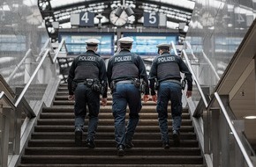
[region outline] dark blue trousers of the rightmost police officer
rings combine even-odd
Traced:
[[[158,102],[156,111],[158,113],[159,126],[162,141],[169,141],[168,133],[168,103],[171,101],[171,116],[173,119],[172,130],[179,131],[182,121],[182,88],[180,84],[163,81],[158,90]]]

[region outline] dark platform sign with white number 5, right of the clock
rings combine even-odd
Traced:
[[[148,12],[144,12],[143,13],[143,17],[144,17],[144,23],[143,26],[145,27],[158,27],[159,25],[159,16],[158,13],[148,13]]]

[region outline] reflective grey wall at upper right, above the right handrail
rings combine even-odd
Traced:
[[[254,0],[196,0],[186,39],[200,61],[207,54],[219,76],[229,64],[237,47],[255,18]],[[212,83],[213,74],[200,67],[200,79]]]

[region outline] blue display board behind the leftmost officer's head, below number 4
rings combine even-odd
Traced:
[[[114,54],[114,33],[64,33],[59,32],[59,41],[65,40],[68,54],[78,55],[87,51],[85,43],[88,39],[100,40],[97,54]]]

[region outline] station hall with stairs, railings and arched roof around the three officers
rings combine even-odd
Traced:
[[[0,167],[256,166],[255,18],[255,0],[0,0]],[[160,43],[191,70],[179,148],[159,145],[149,102],[135,148],[118,157],[111,98],[101,106],[98,147],[74,146],[72,60],[94,38],[108,63],[122,37],[134,40],[147,72]]]

